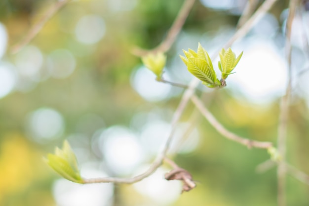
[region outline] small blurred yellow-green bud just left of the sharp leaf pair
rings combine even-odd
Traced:
[[[166,63],[166,56],[162,52],[143,56],[142,62],[155,74],[157,79],[161,78]]]

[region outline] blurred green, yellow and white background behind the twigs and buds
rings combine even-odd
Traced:
[[[189,104],[171,154],[197,188],[165,181],[163,165],[133,185],[79,185],[43,161],[68,139],[83,177],[130,177],[154,160],[170,129],[183,89],[155,82],[132,55],[153,48],[183,0],[74,0],[16,54],[21,41],[56,0],[0,1],[0,206],[274,206],[276,169],[269,159],[221,136]],[[257,1],[259,6],[262,1]],[[304,3],[306,3],[304,1]],[[164,79],[188,84],[179,58],[198,42],[211,56],[234,34],[245,0],[196,0],[167,52]],[[199,85],[203,101],[231,131],[276,143],[279,98],[287,83],[284,31],[288,1],[273,8],[232,49],[244,51],[228,86]],[[308,9],[308,8],[307,8]],[[293,90],[288,162],[309,173],[309,12],[301,4],[292,29]],[[215,70],[219,71],[213,59]],[[308,206],[309,187],[287,177],[288,205]]]

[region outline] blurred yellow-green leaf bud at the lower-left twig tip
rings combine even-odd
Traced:
[[[56,147],[55,154],[48,154],[46,163],[62,177],[77,183],[83,183],[77,166],[77,158],[68,141],[64,141],[62,150]]]

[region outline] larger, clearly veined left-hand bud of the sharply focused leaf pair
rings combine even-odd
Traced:
[[[186,57],[180,55],[180,58],[186,64],[187,69],[191,74],[208,87],[213,88],[221,86],[214,71],[211,59],[200,43],[198,43],[197,53],[192,49],[183,51]]]

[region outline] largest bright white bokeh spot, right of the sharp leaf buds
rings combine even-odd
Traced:
[[[271,41],[256,37],[243,42],[242,58],[235,68],[235,74],[228,79],[228,88],[239,92],[254,103],[269,103],[284,93],[287,70],[283,57]],[[245,45],[250,45],[245,48]],[[240,52],[236,52],[237,55]]]

